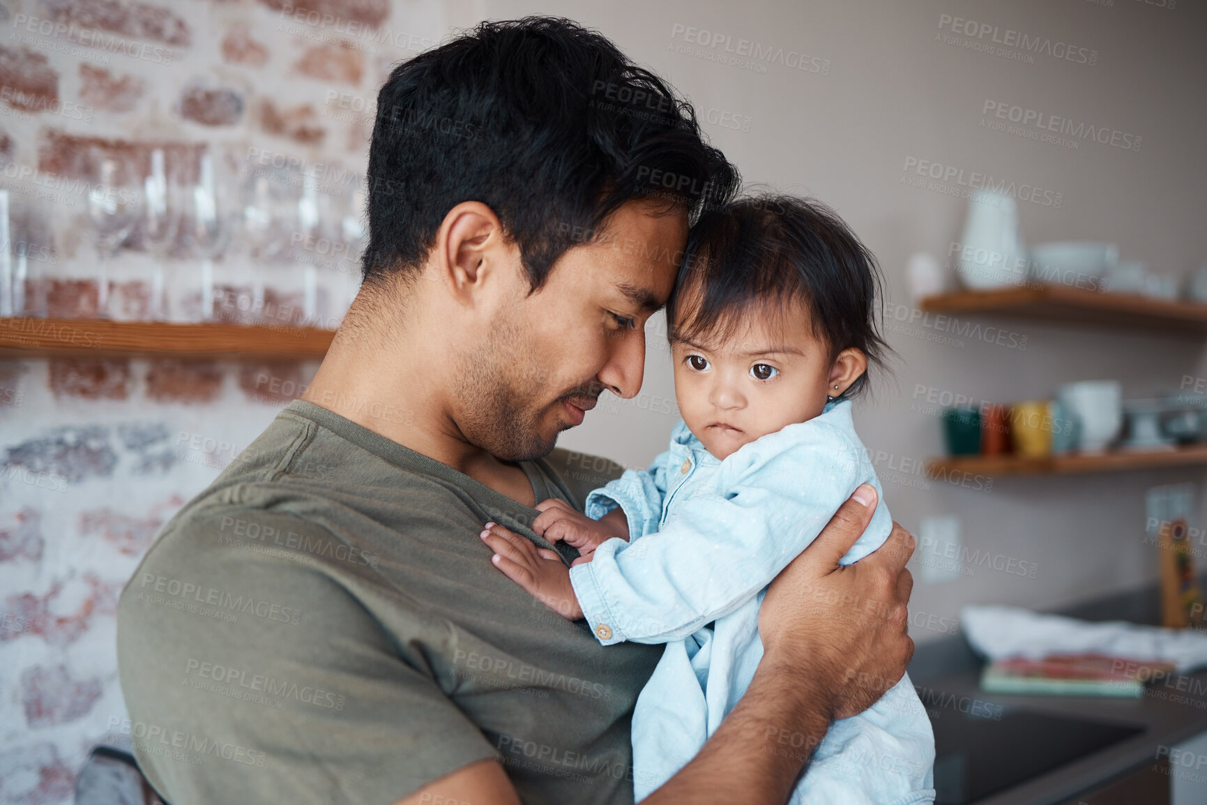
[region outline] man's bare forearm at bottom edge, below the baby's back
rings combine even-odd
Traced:
[[[643,801],[782,805],[829,729],[833,705],[803,667],[759,663],[700,753]]]

